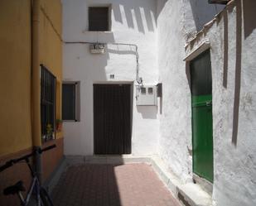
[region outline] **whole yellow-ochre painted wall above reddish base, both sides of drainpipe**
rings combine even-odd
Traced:
[[[40,60],[56,75],[56,118],[60,119],[61,12],[60,0],[41,0]],[[31,0],[0,0],[0,31],[1,158],[32,146]],[[57,133],[59,137],[63,137],[62,132]]]

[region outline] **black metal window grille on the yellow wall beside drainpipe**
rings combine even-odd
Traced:
[[[56,132],[56,77],[41,65],[41,138],[55,139]]]

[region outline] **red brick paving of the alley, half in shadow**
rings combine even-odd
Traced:
[[[180,206],[150,165],[75,165],[53,190],[56,206]]]

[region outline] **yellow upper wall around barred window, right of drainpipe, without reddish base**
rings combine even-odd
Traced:
[[[62,11],[60,0],[41,0],[40,22],[40,61],[56,76],[56,118],[61,119]],[[56,137],[63,137],[62,132],[57,132]]]

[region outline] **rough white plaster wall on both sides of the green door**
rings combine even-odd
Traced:
[[[191,50],[200,46],[202,41],[209,40],[213,79],[213,204],[253,206],[256,204],[256,73],[255,58],[252,54],[256,51],[256,24],[253,12],[256,3],[253,0],[244,1],[245,12],[239,15],[242,17],[242,25],[237,23],[234,2],[230,4],[229,9],[224,12],[227,20],[224,21],[223,15],[220,15],[210,24],[209,31],[205,29],[196,41],[186,47],[185,54],[183,46],[186,40],[193,38],[196,31],[193,8],[186,4],[186,0],[159,2],[163,3],[163,6],[159,4],[160,15],[157,19],[159,81],[163,83],[160,155],[181,180],[191,180],[192,162],[187,150],[191,149],[191,94],[186,79],[189,68],[182,60]],[[239,50],[236,41],[239,28],[242,34],[242,52],[236,54]],[[228,48],[227,53],[224,48]],[[236,74],[239,59],[240,78]],[[227,65],[226,68],[224,65]],[[228,72],[225,86],[226,69]],[[236,144],[232,142],[233,122],[236,117],[235,85],[240,90]]]

